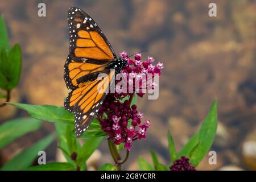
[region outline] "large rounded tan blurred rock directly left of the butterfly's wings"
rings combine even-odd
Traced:
[[[22,87],[30,104],[63,106],[68,95],[63,80],[64,63],[65,56],[47,56],[30,68]]]

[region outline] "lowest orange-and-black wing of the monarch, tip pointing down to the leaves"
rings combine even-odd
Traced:
[[[84,133],[97,114],[112,78],[113,73],[108,73],[101,80],[88,81],[81,88],[70,92],[66,98],[64,106],[75,116],[77,137]]]

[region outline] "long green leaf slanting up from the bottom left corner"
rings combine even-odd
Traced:
[[[52,143],[55,138],[55,134],[51,134],[48,137],[39,140],[33,146],[24,149],[18,155],[14,156],[13,159],[10,160],[5,166],[3,166],[3,171],[10,170],[26,170],[30,164],[35,160],[36,156],[38,156],[38,152],[44,150],[49,144]]]

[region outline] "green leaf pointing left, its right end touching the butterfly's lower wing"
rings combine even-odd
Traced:
[[[61,122],[69,125],[73,125],[74,117],[72,113],[69,113],[64,107],[57,107],[52,105],[30,105],[9,103],[19,109],[26,110],[31,117],[41,119],[49,122]]]

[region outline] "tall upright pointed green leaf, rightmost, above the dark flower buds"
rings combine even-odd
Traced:
[[[199,130],[199,142],[197,143],[197,146],[193,148],[189,160],[193,166],[196,167],[201,160],[203,160],[205,154],[210,150],[217,131],[217,121],[217,100],[215,100],[207,118],[205,118],[205,121]]]

